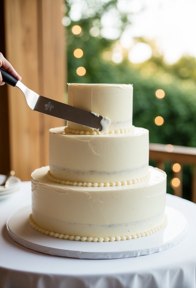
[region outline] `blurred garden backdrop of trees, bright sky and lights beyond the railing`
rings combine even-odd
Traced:
[[[133,84],[134,126],[149,130],[150,143],[169,144],[151,147],[160,155],[151,153],[157,161],[150,164],[166,171],[169,193],[187,199],[193,166],[188,159],[173,162],[176,155],[165,162],[163,152],[196,146],[195,9],[192,0],[69,0],[62,6],[68,82]]]

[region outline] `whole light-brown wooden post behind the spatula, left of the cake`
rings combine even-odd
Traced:
[[[6,56],[36,93],[64,102],[63,0],[4,0]],[[32,111],[23,93],[8,87],[10,166],[21,180],[48,164],[48,130],[64,120]]]

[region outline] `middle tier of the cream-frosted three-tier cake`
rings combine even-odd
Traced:
[[[147,129],[135,127],[134,134],[102,135],[78,135],[64,132],[64,129],[49,130],[51,180],[107,186],[146,179],[149,163]]]

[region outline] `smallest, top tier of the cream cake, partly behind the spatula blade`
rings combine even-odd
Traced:
[[[109,132],[132,131],[133,86],[131,84],[68,84],[68,105],[106,116],[111,120]],[[90,131],[89,127],[67,123],[71,130]]]

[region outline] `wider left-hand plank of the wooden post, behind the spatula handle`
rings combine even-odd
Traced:
[[[35,1],[6,0],[6,55],[22,76],[22,83],[38,91],[37,14]],[[23,93],[8,86],[10,164],[21,180],[29,180],[39,167],[39,118],[26,104]]]

